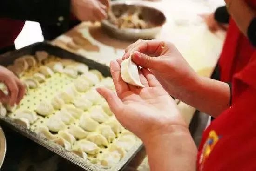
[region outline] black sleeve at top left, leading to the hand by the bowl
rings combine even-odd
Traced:
[[[67,25],[70,0],[0,0],[0,17]]]

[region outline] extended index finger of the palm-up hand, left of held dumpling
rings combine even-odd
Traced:
[[[116,93],[120,97],[123,92],[129,90],[129,87],[127,83],[122,80],[120,66],[116,61],[110,62],[110,72],[114,81]]]

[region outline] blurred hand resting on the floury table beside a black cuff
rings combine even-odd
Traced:
[[[201,15],[204,19],[206,25],[208,26],[211,32],[216,32],[218,30],[227,30],[228,25],[218,23],[214,18],[214,13],[208,15]]]

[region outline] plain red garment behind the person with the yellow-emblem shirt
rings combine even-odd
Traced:
[[[256,0],[245,1],[249,7],[256,9]],[[243,35],[235,21],[230,18],[227,37],[219,59],[220,80],[231,82],[232,77],[248,64],[253,52],[254,47],[249,39]]]

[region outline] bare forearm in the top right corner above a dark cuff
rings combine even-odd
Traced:
[[[247,36],[248,26],[255,17],[254,11],[246,4],[244,0],[225,0],[228,11],[236,21],[237,26]]]

